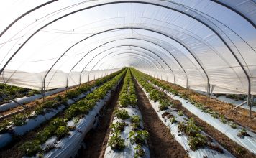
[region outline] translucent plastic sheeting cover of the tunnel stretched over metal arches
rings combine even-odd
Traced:
[[[12,0],[0,13],[1,83],[60,88],[132,66],[256,94],[255,0]]]

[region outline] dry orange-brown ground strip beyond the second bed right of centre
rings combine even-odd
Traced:
[[[237,108],[237,111],[232,110],[234,106],[230,103],[224,103],[222,101],[218,101],[214,98],[209,98],[208,96],[204,96],[194,92],[193,90],[188,90],[186,88],[182,88],[179,85],[174,85],[173,83],[168,83],[164,80],[159,80],[161,83],[168,85],[170,88],[174,90],[178,90],[179,93],[186,94],[189,98],[196,101],[196,103],[203,104],[206,108],[210,108],[213,111],[224,115],[230,121],[234,121],[240,126],[249,129],[252,132],[256,133],[256,112],[252,111],[252,119],[249,118],[249,111],[244,108]]]

